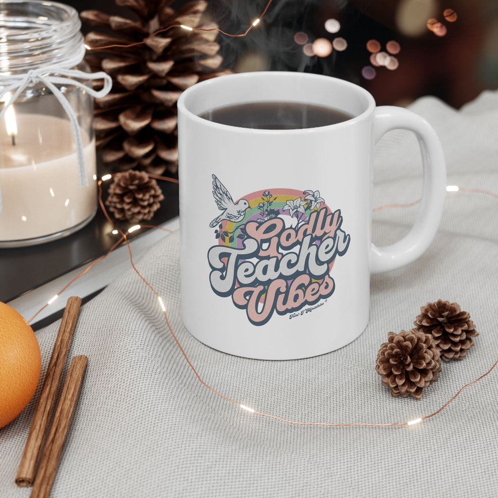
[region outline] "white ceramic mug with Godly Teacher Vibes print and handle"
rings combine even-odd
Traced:
[[[263,101],[353,118],[264,130],[199,117]],[[423,195],[408,235],[376,247],[373,146],[394,128],[419,139]],[[178,100],[178,156],[182,319],[199,341],[233,355],[306,358],[356,339],[369,320],[371,273],[419,257],[443,210],[444,156],[431,126],[327,76],[254,72],[190,87]]]

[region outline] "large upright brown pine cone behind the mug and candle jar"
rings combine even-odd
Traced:
[[[99,46],[143,41],[173,24],[217,28],[203,20],[208,2],[190,1],[173,10],[172,0],[116,0],[131,9],[137,20],[84,10],[87,23],[107,28],[91,32],[85,43],[92,51],[85,58],[92,70],[113,78],[113,90],[96,100],[95,131],[104,163],[117,170],[139,167],[162,174],[178,169],[176,101],[183,90],[221,74],[223,61],[215,42],[218,31],[172,28],[134,47],[99,50]]]

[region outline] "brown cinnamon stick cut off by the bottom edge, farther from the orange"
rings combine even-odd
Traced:
[[[75,356],[71,362],[50,434],[43,450],[31,498],[48,498],[50,495],[87,363],[86,356]]]

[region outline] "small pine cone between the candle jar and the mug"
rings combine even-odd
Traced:
[[[164,196],[157,182],[143,171],[124,171],[114,177],[106,205],[117,220],[150,220]]]

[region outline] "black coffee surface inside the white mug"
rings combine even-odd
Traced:
[[[200,117],[215,123],[255,129],[317,128],[353,118],[338,109],[304,102],[249,102],[212,109]]]

